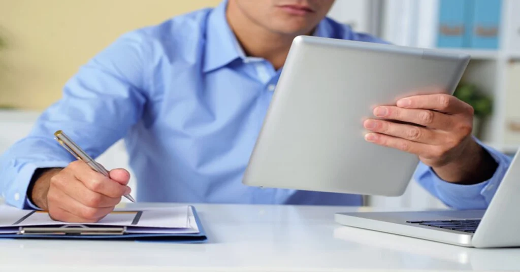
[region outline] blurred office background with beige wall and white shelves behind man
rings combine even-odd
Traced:
[[[219,2],[0,0],[0,153],[27,135],[64,83],[119,35]],[[520,146],[518,14],[520,0],[336,0],[329,17],[394,44],[471,54],[455,95],[475,108],[474,135],[513,154]],[[98,161],[127,168],[122,142]],[[443,207],[414,182],[404,196],[370,197],[369,204]]]

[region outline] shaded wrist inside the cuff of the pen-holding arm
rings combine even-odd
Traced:
[[[38,169],[33,175],[33,180],[27,196],[38,208],[48,210],[47,192],[49,191],[50,178],[61,171],[61,168]]]

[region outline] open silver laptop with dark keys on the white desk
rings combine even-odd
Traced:
[[[336,222],[475,248],[520,247],[518,150],[487,210],[337,213]]]

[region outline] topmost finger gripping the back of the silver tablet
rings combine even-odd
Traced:
[[[458,98],[447,94],[417,95],[402,98],[397,101],[397,107],[408,109],[426,109],[456,114],[473,113],[473,108]]]

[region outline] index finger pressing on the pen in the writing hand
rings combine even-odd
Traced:
[[[85,187],[91,191],[100,193],[111,198],[119,198],[129,193],[130,187],[121,185],[114,180],[103,176],[102,174],[90,169],[90,167],[82,162],[76,161],[69,164],[74,176],[79,179]]]

